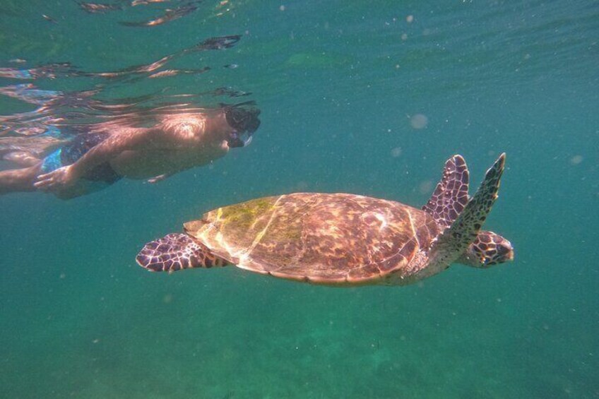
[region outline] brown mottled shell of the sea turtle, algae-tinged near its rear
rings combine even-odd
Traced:
[[[321,284],[372,284],[402,270],[439,233],[401,203],[353,194],[295,193],[218,208],[185,224],[240,268]]]

